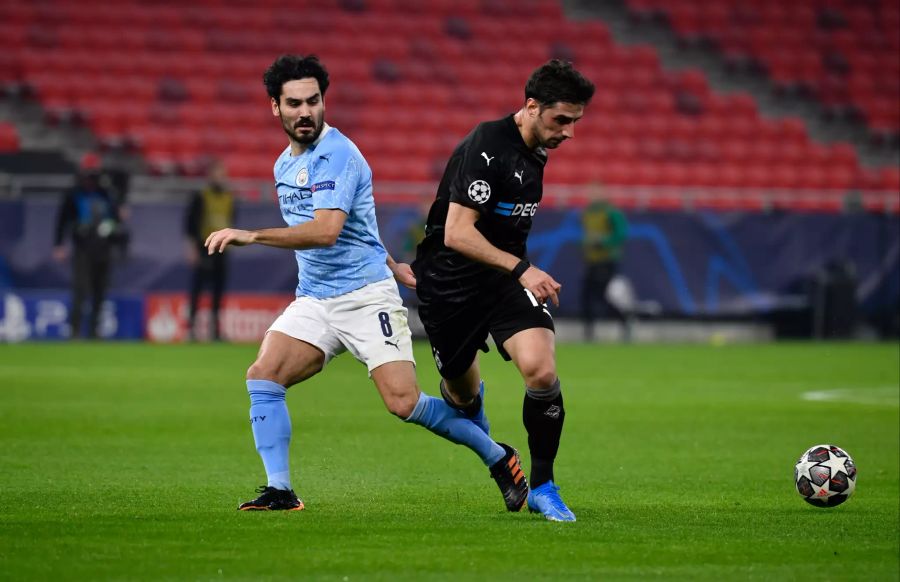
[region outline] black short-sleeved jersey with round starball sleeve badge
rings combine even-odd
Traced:
[[[423,302],[462,302],[509,277],[444,245],[450,202],[477,210],[475,228],[492,245],[525,258],[531,221],[543,195],[543,148],[525,145],[512,115],[479,124],[453,151],[428,213],[413,270]]]

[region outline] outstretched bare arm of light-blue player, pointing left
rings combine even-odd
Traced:
[[[206,239],[209,254],[221,253],[228,245],[260,244],[281,249],[312,249],[330,247],[337,242],[347,215],[343,210],[319,209],[312,220],[284,228],[217,230]]]

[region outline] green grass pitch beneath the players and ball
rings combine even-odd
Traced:
[[[235,511],[264,481],[255,351],[0,346],[0,579],[900,577],[896,344],[559,346],[573,524],[505,512],[479,460],[391,417],[349,355],[288,394],[306,510]],[[521,382],[496,352],[482,366],[494,436],[527,469]],[[833,509],[792,483],[823,442],[859,467]]]

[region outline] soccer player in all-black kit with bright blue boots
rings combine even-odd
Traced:
[[[593,95],[594,85],[570,63],[536,69],[518,112],[479,124],[454,150],[413,263],[419,315],[447,403],[489,430],[477,357],[487,351],[488,334],[522,374],[528,508],[552,521],[575,521],[553,475],[566,412],[545,302],[559,305],[561,286],[528,262],[526,240],[543,195],[547,150],[575,135]]]

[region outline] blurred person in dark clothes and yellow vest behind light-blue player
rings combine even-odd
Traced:
[[[219,310],[225,291],[227,260],[225,253],[208,254],[204,243],[210,234],[234,223],[234,194],[228,189],[225,166],[214,163],[209,170],[203,190],[194,194],[185,217],[185,233],[188,237],[188,262],[193,267],[191,302],[188,312],[188,337],[196,337],[195,320],[197,304],[203,288],[209,286],[212,294],[210,313],[210,337],[221,339]]]

